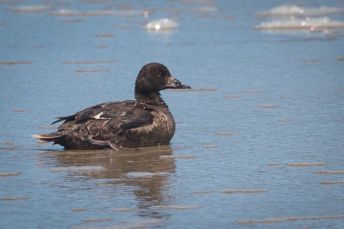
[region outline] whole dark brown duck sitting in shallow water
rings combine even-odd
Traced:
[[[42,142],[51,142],[65,149],[112,150],[169,144],[175,121],[161,98],[165,89],[191,89],[171,76],[162,64],[144,65],[135,82],[136,101],[105,102],[73,115],[57,117],[64,121],[49,134],[32,135]]]

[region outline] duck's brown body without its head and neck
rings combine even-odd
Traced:
[[[129,100],[98,104],[58,121],[63,120],[58,131],[51,133],[54,139],[49,140],[71,149],[102,148],[88,138],[122,147],[168,144],[175,131],[167,107]]]

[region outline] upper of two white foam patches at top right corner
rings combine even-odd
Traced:
[[[275,17],[286,17],[286,16],[321,16],[335,13],[343,13],[344,8],[340,7],[325,7],[320,8],[300,8],[297,5],[279,5],[268,11],[257,12],[257,16],[275,16]]]

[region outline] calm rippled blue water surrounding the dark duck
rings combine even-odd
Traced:
[[[282,0],[57,0],[39,13],[6,9],[44,1],[1,2],[0,61],[31,63],[0,65],[0,228],[344,227],[343,216],[336,218],[344,214],[344,61],[337,60],[344,30],[253,30],[278,20],[255,13],[291,3]],[[292,3],[344,7],[337,0]],[[117,7],[152,13],[50,15]],[[199,7],[218,11],[190,12]],[[344,21],[343,13],[325,16]],[[160,18],[180,27],[141,29]],[[104,60],[117,62],[62,64]],[[40,127],[54,117],[134,99],[137,73],[149,62],[166,65],[191,88],[217,89],[162,92],[179,121],[170,145],[80,151],[31,138],[53,132]],[[76,72],[88,69],[107,71]],[[307,162],[313,165],[287,165]],[[331,173],[312,173],[323,170]],[[228,189],[266,192],[219,192]],[[284,217],[298,220],[274,222]],[[266,218],[274,220],[241,223]]]

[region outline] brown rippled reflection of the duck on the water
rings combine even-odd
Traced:
[[[99,180],[110,192],[118,193],[123,190],[123,195],[135,195],[139,214],[150,215],[149,207],[157,204],[166,204],[170,201],[168,192],[171,183],[171,175],[152,175],[149,177],[128,176],[130,172],[175,172],[174,159],[162,159],[159,156],[171,155],[173,149],[170,145],[142,147],[138,151],[131,150],[62,150],[49,151],[41,154],[40,161],[49,167],[69,166],[94,166],[100,165],[106,169],[93,172],[71,172],[66,173],[66,182],[77,182],[78,180]],[[96,188],[98,185],[88,184],[87,189]],[[109,188],[110,187],[110,188]],[[130,190],[130,192],[128,192]],[[150,210],[149,210],[150,211]],[[156,214],[156,213],[155,213]]]

